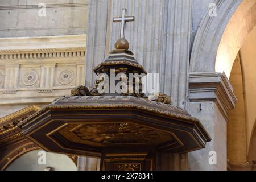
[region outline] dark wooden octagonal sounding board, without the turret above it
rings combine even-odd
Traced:
[[[210,140],[184,110],[133,96],[63,97],[22,122],[23,134],[47,151],[185,153]]]

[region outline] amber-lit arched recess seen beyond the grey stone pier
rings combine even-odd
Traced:
[[[228,124],[228,157],[233,164],[256,161],[256,27],[234,61],[230,82],[238,98]]]

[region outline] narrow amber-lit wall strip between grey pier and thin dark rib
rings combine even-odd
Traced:
[[[246,164],[246,110],[245,110],[245,82],[241,68],[240,55],[234,62],[230,75],[230,82],[237,97],[236,108],[229,114],[228,122],[228,160],[231,164]]]

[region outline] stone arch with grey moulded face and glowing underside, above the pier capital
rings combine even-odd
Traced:
[[[256,1],[215,1],[217,16],[207,14],[193,43],[190,72],[225,72],[232,65],[246,36],[256,24]]]

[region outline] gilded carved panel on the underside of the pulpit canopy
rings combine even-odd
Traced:
[[[173,139],[172,135],[130,123],[68,125],[59,131],[71,142],[106,146],[113,144],[155,144]]]

